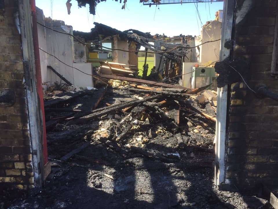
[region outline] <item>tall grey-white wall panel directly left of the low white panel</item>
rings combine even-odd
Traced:
[[[73,34],[72,26],[66,25],[62,27],[54,27],[54,29]],[[46,28],[46,43],[48,53],[56,56],[59,60],[68,64],[69,66],[73,66],[73,37],[57,33],[51,29]],[[65,77],[69,82],[74,84],[74,69],[72,67],[66,66],[52,56],[48,56],[47,63],[58,73],[63,75],[63,77]],[[50,75],[48,75],[48,72],[50,72]],[[50,86],[54,85],[54,82],[56,81],[61,81],[61,79],[50,69],[47,69],[47,80],[50,81]]]

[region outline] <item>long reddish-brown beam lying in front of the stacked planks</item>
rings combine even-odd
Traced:
[[[155,81],[142,80],[142,79],[137,79],[137,78],[127,78],[127,77],[121,77],[121,76],[116,76],[116,75],[102,75],[102,74],[98,74],[98,76],[100,78],[124,80],[124,81],[128,81],[128,82],[150,84],[150,85],[154,85],[154,86],[161,86],[161,87],[167,87],[167,88],[173,88],[173,89],[187,89],[186,93],[190,93],[191,91],[196,90],[196,89],[190,89],[190,88],[185,88],[185,87],[171,85],[171,84],[165,84],[165,83],[157,83]]]

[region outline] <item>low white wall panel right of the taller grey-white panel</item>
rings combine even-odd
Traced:
[[[92,74],[92,63],[73,63],[73,66],[84,73]],[[74,69],[74,85],[76,87],[94,87],[93,78]]]

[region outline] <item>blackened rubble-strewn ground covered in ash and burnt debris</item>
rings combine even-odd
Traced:
[[[146,98],[128,87],[108,88],[98,108]],[[56,108],[93,111],[90,91]],[[3,195],[16,208],[270,208],[267,201],[213,185],[214,117],[189,96],[162,96],[84,123],[60,121],[47,133],[52,172],[45,187],[23,199]],[[162,112],[161,112],[162,111]],[[179,112],[180,118],[177,120]],[[48,111],[47,118],[68,114]],[[80,115],[82,116],[82,115]],[[125,119],[123,121],[123,119]],[[90,142],[67,161],[60,159]]]

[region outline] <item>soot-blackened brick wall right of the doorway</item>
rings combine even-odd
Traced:
[[[237,0],[232,56],[250,62],[251,88],[266,84],[278,93],[271,76],[277,0]],[[246,6],[251,3],[250,10]],[[226,183],[238,187],[278,184],[278,102],[257,98],[244,83],[230,88]]]

